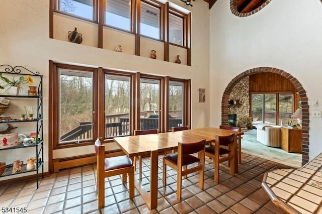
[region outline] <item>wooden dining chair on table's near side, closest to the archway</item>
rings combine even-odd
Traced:
[[[215,136],[215,142],[206,147],[205,156],[213,160],[214,180],[219,183],[219,165],[229,169],[230,175],[235,175],[235,134],[228,136]],[[221,164],[228,161],[228,164]]]

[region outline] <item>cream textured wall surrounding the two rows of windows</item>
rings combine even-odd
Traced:
[[[45,171],[48,170],[48,61],[77,63],[103,68],[139,71],[158,75],[191,79],[192,81],[192,128],[209,125],[209,10],[203,1],[187,7],[181,1],[173,3],[192,12],[192,66],[164,62],[146,57],[129,55],[105,49],[79,45],[67,41],[49,39],[49,1],[2,0],[0,1],[0,65],[22,65],[44,75],[44,140]],[[198,13],[198,14],[197,14]],[[74,26],[70,26],[72,31]],[[66,36],[68,32],[66,32]],[[198,88],[206,89],[206,102],[198,103]],[[3,130],[3,124],[0,124]],[[57,152],[78,155],[92,148]],[[78,151],[82,150],[82,151]],[[12,162],[16,150],[0,151],[0,161]],[[22,157],[24,158],[24,157]],[[28,156],[25,159],[29,158]],[[55,158],[55,157],[54,157]],[[25,174],[19,175],[23,176]],[[12,177],[4,177],[10,179]]]

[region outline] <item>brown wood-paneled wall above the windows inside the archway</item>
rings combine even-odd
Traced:
[[[277,73],[263,72],[250,75],[250,93],[254,92],[292,92],[296,89],[293,83]]]

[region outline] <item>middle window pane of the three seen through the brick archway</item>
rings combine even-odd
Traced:
[[[264,94],[264,123],[276,124],[276,94]]]

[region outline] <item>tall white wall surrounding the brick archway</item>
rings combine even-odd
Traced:
[[[282,69],[302,84],[309,104],[309,159],[322,152],[322,4],[319,0],[272,1],[258,13],[240,18],[229,1],[210,10],[210,125],[221,122],[221,97],[238,74],[257,67]],[[318,100],[319,106],[313,107]]]

